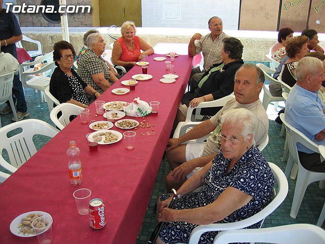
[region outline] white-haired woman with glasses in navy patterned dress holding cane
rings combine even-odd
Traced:
[[[157,244],[188,243],[194,227],[246,219],[271,201],[274,177],[254,145],[256,121],[256,116],[244,108],[222,115],[218,135],[221,150],[216,157],[178,189],[182,198],[174,209],[168,208],[170,194],[160,196],[157,217],[166,223]],[[200,186],[200,192],[192,192]],[[258,228],[258,224],[249,228]],[[202,234],[199,243],[212,243],[216,234]]]

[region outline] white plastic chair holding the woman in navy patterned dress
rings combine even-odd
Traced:
[[[272,169],[275,181],[278,184],[278,191],[273,191],[273,199],[265,208],[245,220],[234,223],[199,225],[193,229],[188,244],[198,243],[200,236],[207,231],[237,230],[251,226],[259,221],[262,221],[262,226],[264,219],[272,214],[272,212],[283,202],[288,193],[288,181],[282,170],[273,163],[269,162],[269,165]]]

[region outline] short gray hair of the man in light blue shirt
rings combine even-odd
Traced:
[[[297,82],[304,82],[307,75],[315,76],[321,68],[323,68],[323,63],[318,58],[303,57],[296,68]]]

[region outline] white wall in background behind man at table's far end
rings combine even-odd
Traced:
[[[223,29],[238,29],[239,0],[142,0],[142,27],[208,28],[212,16]]]

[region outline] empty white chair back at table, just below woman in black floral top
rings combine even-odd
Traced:
[[[57,105],[50,113],[50,118],[53,121],[53,123],[62,130],[64,127],[66,127],[70,123],[70,116],[71,115],[79,115],[79,110],[82,109],[82,107],[79,107],[78,105],[72,104],[72,103],[61,103]],[[57,118],[57,114],[61,112],[62,115]]]

